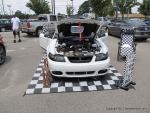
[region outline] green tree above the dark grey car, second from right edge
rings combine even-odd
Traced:
[[[120,11],[123,19],[125,13],[131,13],[131,8],[135,5],[139,5],[137,0],[113,0],[113,2],[116,8]]]

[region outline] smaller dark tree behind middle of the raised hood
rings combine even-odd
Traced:
[[[80,5],[78,14],[82,15],[84,13],[89,13],[89,12],[90,12],[89,1],[85,1],[83,4]]]

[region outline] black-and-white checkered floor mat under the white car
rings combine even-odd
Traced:
[[[36,69],[33,78],[25,92],[26,95],[30,94],[47,94],[59,92],[84,92],[84,91],[101,91],[117,89],[115,83],[122,79],[122,75],[110,66],[109,73],[103,77],[96,78],[54,78],[53,83],[49,87],[43,86],[42,67],[44,60]]]

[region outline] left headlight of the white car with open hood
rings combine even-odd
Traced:
[[[56,61],[56,62],[65,62],[65,58],[63,55],[52,55],[51,53],[48,54],[49,59]]]

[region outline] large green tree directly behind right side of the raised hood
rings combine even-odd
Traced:
[[[111,0],[89,0],[89,3],[96,16],[107,16],[112,7]]]

